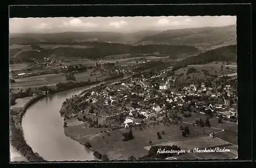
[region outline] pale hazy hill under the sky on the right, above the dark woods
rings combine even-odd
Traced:
[[[137,44],[172,44],[196,46],[202,51],[237,44],[236,25],[166,30],[147,36]]]

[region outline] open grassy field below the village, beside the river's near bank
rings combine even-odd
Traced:
[[[187,124],[182,124],[186,126]],[[188,137],[197,137],[200,135],[208,136],[211,133],[212,129],[205,128],[205,133],[203,133],[203,128],[189,126],[190,134]],[[133,128],[134,139],[129,141],[122,141],[122,133],[127,132],[127,129],[118,129],[111,131],[111,136],[106,135],[106,133],[95,134],[95,131],[88,131],[89,128],[85,128],[84,125],[73,126],[65,128],[65,132],[68,136],[76,136],[78,141],[86,142],[90,141],[94,150],[104,153],[109,156],[110,159],[126,159],[127,157],[133,155],[134,157],[141,157],[147,154],[147,150],[144,147],[150,145],[148,142],[152,141],[152,145],[156,145],[162,142],[167,142],[170,140],[183,139],[184,137],[181,134],[179,126],[150,126],[143,128],[143,130],[135,130]],[[104,131],[103,129],[99,129]],[[165,134],[161,135],[162,139],[157,138],[157,132],[162,134],[164,131]],[[80,135],[80,136],[79,136]],[[79,137],[78,137],[79,136]],[[104,136],[104,138],[102,137]],[[107,143],[108,142],[108,143]]]

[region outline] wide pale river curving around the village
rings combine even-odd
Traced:
[[[118,78],[116,81],[128,77]],[[59,110],[66,98],[81,93],[87,87],[80,87],[59,92],[45,97],[32,104],[26,111],[22,127],[28,145],[48,161],[86,161],[98,160],[93,153],[80,145],[79,142],[66,136],[63,128],[63,118]]]

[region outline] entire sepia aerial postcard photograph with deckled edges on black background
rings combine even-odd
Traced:
[[[9,18],[10,162],[236,159],[237,76],[236,16]]]

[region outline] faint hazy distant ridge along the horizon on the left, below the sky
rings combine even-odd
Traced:
[[[139,31],[133,33],[115,32],[63,32],[63,33],[11,33],[10,44],[38,44],[42,42],[110,42],[133,44],[146,36],[151,36],[160,31]]]

